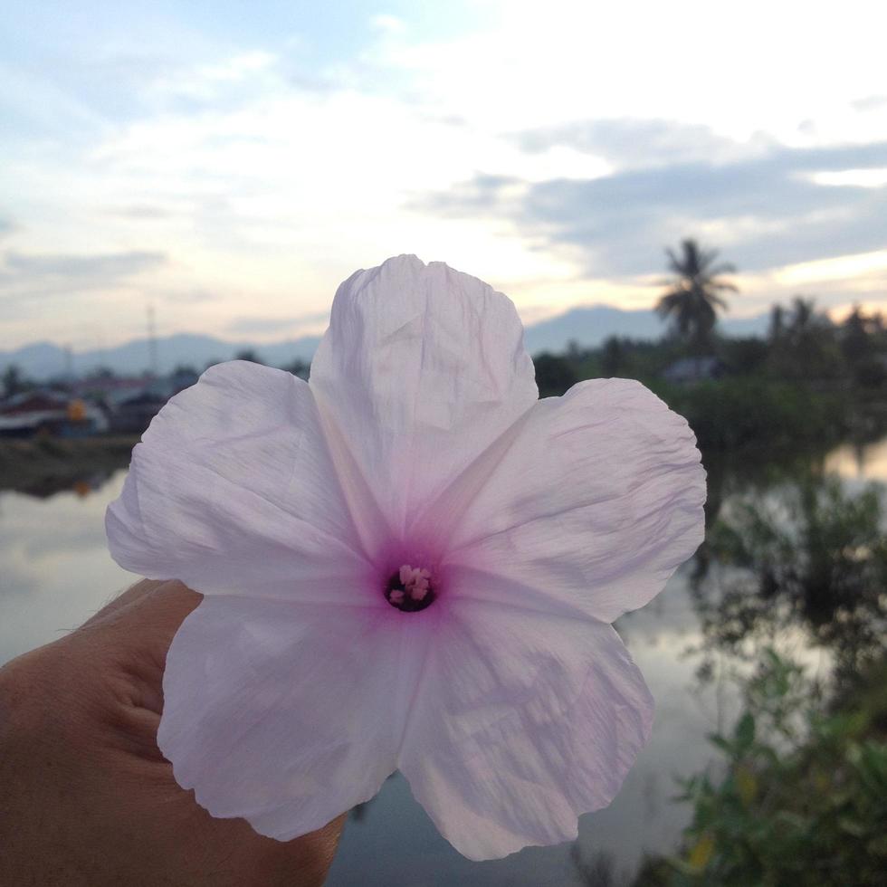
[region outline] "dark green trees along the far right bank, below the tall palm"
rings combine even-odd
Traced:
[[[708,329],[703,323],[698,335],[683,338],[611,337],[601,348],[574,344],[560,356],[539,355],[539,388],[553,396],[577,379],[639,379],[686,417],[709,453],[821,448],[887,429],[887,330],[880,315],[856,310],[836,326],[814,300],[797,297],[787,309],[775,306],[766,340],[715,338],[702,328]],[[666,370],[698,353],[703,339],[722,376],[667,381]]]

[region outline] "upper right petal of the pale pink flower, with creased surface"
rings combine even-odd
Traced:
[[[430,513],[453,555],[613,622],[644,606],[700,545],[705,472],[689,425],[638,382],[595,379],[539,401],[495,463]],[[460,512],[456,521],[453,512]],[[472,596],[501,600],[495,585]]]

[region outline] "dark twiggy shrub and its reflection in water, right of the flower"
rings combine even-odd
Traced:
[[[834,656],[837,677],[858,673],[887,632],[883,523],[881,488],[847,491],[810,471],[735,497],[694,576],[704,645],[750,660],[797,628]]]

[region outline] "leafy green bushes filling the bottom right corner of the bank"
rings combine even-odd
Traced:
[[[883,883],[887,871],[887,696],[825,704],[772,650],[744,686],[744,711],[711,742],[721,763],[682,781],[693,806],[681,849],[638,885]]]

